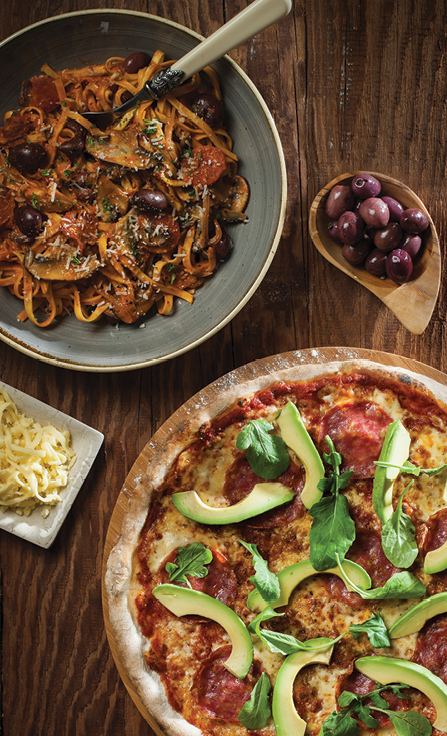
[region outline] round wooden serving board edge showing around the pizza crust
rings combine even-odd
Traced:
[[[273,355],[262,360],[257,360],[253,363],[241,366],[228,374],[228,378],[231,377],[239,383],[254,380],[261,376],[269,375],[274,370],[278,369],[280,364],[281,369],[293,367],[297,365],[306,364],[325,364],[331,362],[340,361],[351,361],[351,360],[369,360],[374,363],[378,363],[383,366],[394,366],[397,368],[405,368],[406,370],[417,373],[420,376],[430,378],[437,383],[447,386],[447,376],[440,371],[431,368],[424,363],[419,363],[416,360],[410,358],[404,358],[399,355],[391,355],[390,353],[383,353],[375,350],[363,350],[360,348],[312,348],[306,350],[297,350],[290,353],[283,353],[281,355]],[[114,639],[113,631],[110,625],[107,595],[104,584],[105,570],[107,566],[107,560],[110,552],[115,546],[119,539],[121,527],[123,524],[124,517],[127,510],[132,503],[132,493],[136,488],[138,480],[147,471],[151,460],[157,454],[160,448],[164,447],[169,437],[176,429],[182,427],[191,416],[191,408],[197,407],[198,402],[206,404],[212,402],[218,394],[222,391],[222,379],[218,379],[213,383],[199,391],[198,394],[191,397],[185,404],[183,404],[176,412],[160,427],[160,429],[154,434],[150,442],[147,443],[145,448],[142,450],[134,465],[132,466],[129,475],[126,478],[124,486],[118,496],[118,500],[113,511],[109,529],[107,532],[107,538],[104,548],[103,558],[103,569],[102,569],[102,602],[104,612],[104,622],[109,641],[110,649],[117,666],[118,672],[121,679],[138,710],[145,718],[147,723],[155,731],[158,736],[164,736],[159,725],[151,717],[148,710],[145,708],[137,693],[135,692],[132,683],[130,682],[129,676],[120,661],[118,654],[117,645]]]

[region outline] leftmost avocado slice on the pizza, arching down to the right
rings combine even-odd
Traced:
[[[152,593],[176,616],[204,616],[220,624],[233,647],[225,667],[240,680],[246,677],[253,661],[253,644],[247,627],[232,608],[206,593],[171,583],[157,585]]]

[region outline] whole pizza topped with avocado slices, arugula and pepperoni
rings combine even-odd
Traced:
[[[356,360],[188,402],[105,572],[157,731],[447,733],[446,400]]]

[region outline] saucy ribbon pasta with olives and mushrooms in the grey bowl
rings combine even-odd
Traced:
[[[0,128],[0,285],[40,327],[74,311],[135,322],[189,303],[231,247],[249,197],[211,68],[103,131],[82,115],[129,99],[172,62],[137,52],[23,83]],[[46,318],[38,319],[39,309]]]

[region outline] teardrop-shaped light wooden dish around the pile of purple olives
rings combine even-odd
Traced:
[[[317,250],[330,263],[347,273],[379,297],[396,315],[407,330],[420,335],[427,327],[435,308],[441,281],[441,251],[436,228],[419,197],[405,184],[384,174],[368,172],[382,185],[382,195],[394,197],[402,206],[417,207],[428,217],[428,229],[422,234],[422,251],[414,261],[411,279],[405,284],[396,284],[389,278],[379,278],[368,273],[363,266],[352,266],[342,256],[342,246],[328,235],[329,218],[325,212],[326,199],[336,184],[350,184],[357,174],[354,171],[342,174],[321,189],[312,202],[309,215],[309,232]]]

